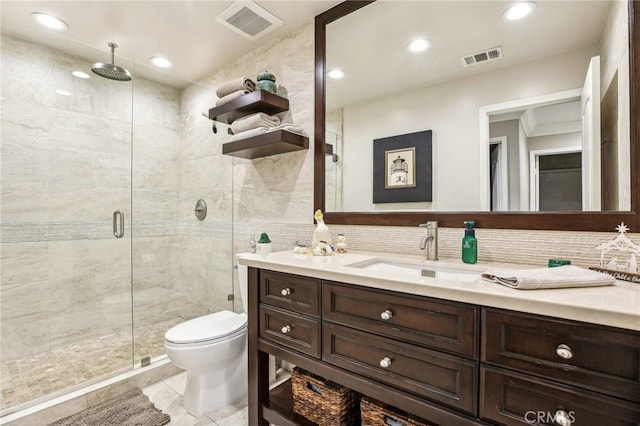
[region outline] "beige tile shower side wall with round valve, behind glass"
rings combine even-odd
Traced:
[[[210,86],[207,82],[204,87]],[[215,87],[215,86],[214,86]],[[181,94],[182,137],[178,150],[178,239],[176,286],[185,292],[183,318],[232,309],[231,225],[232,164],[222,155],[212,122],[203,117],[215,104],[215,90],[192,85]],[[218,131],[218,135],[226,132]],[[207,217],[199,221],[194,208],[207,203]]]

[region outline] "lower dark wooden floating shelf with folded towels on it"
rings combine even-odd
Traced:
[[[285,130],[275,130],[222,145],[222,153],[242,158],[267,157],[309,148],[309,138]]]

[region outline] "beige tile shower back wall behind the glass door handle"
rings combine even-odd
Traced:
[[[2,37],[3,360],[131,335],[132,222],[136,323],[178,313],[168,297],[178,247],[167,230],[177,217],[179,92],[138,79],[132,102],[130,83],[69,72],[90,65]],[[125,213],[123,239],[112,234],[115,209]]]

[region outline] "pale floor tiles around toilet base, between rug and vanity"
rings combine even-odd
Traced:
[[[223,407],[201,418],[192,416],[182,407],[182,395],[187,373],[171,376],[142,389],[151,402],[171,416],[171,426],[247,426],[247,400]]]

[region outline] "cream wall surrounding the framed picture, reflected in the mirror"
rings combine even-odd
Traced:
[[[429,207],[478,210],[478,109],[582,87],[589,59],[594,55],[597,46],[590,46],[543,61],[345,107],[344,210],[381,207],[371,201],[373,139],[428,129],[433,130],[434,159],[434,202]],[[411,208],[425,207],[409,204]]]

